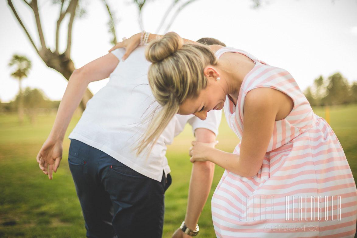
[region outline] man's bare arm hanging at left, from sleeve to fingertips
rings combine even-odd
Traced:
[[[67,127],[88,84],[109,77],[118,62],[113,54],[107,54],[75,70],[71,75],[50,135],[36,157],[40,169],[48,174],[49,179],[52,179],[52,171],[56,172],[59,167]]]

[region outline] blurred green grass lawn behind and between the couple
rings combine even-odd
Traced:
[[[324,117],[324,108],[314,108]],[[38,116],[37,125],[25,120],[19,126],[16,115],[0,115],[0,237],[85,237],[84,220],[69,171],[67,153],[69,140],[64,141],[64,158],[54,179],[40,171],[36,155],[46,140],[54,116]],[[331,107],[331,127],[338,136],[357,176],[357,105]],[[67,135],[79,120],[76,116]],[[222,118],[218,148],[232,152],[239,142]],[[174,144],[169,146],[167,158],[173,183],[166,192],[164,236],[171,237],[185,217],[188,182],[192,164],[188,147],[193,140],[186,126]],[[223,169],[216,166],[211,194],[200,217],[199,237],[215,237],[210,199]]]

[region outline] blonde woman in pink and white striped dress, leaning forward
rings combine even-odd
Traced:
[[[139,152],[175,113],[205,120],[224,108],[241,140],[233,153],[190,148],[191,162],[226,169],[212,198],[217,237],[354,236],[357,193],[345,154],[286,70],[242,50],[182,44],[174,32],[152,42],[146,58],[163,109]]]

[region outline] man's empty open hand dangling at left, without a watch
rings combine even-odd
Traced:
[[[57,168],[62,159],[62,151],[62,140],[54,140],[53,138],[48,137],[36,157],[40,169],[44,174],[48,174],[49,179],[52,179],[52,172],[57,172]]]

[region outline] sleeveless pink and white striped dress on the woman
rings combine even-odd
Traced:
[[[353,237],[357,193],[350,166],[335,133],[315,115],[296,81],[286,70],[267,65],[249,53],[255,67],[242,82],[237,107],[226,98],[230,128],[242,139],[246,94],[270,87],[290,96],[293,110],[276,121],[261,169],[246,178],[228,170],[212,197],[217,237]],[[240,143],[235,148],[239,155]]]

